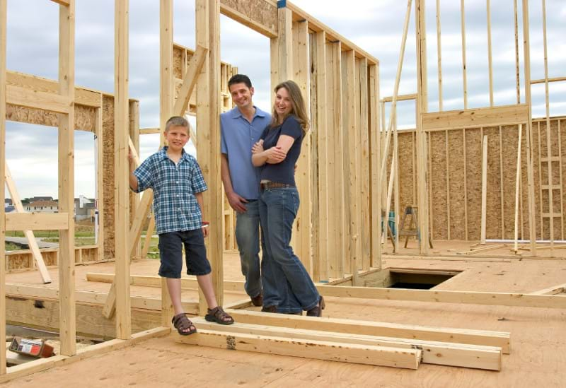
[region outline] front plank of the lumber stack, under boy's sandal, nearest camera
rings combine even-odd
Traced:
[[[223,331],[213,330],[200,330],[190,336],[180,336],[179,334],[174,334],[174,336],[175,341],[180,343],[232,351],[252,351],[408,369],[418,368],[422,353],[420,349],[389,348],[311,339],[287,339],[277,336],[224,333]]]

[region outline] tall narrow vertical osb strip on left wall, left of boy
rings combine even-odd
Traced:
[[[114,257],[114,98],[104,96],[103,109],[103,201],[104,258]]]

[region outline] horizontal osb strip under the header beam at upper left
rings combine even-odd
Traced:
[[[75,129],[94,132],[95,108],[75,105]],[[18,105],[6,105],[6,119],[13,122],[58,127],[57,113]]]

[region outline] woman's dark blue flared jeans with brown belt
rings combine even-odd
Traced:
[[[265,239],[262,260],[263,305],[277,312],[311,310],[318,304],[318,290],[289,245],[299,192],[295,187],[264,189],[260,221]]]

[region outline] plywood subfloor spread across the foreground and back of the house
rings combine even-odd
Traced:
[[[226,279],[241,279],[237,255],[225,254],[224,260]],[[566,283],[566,261],[563,260],[388,259],[387,266],[463,270],[437,286],[445,290],[532,292]],[[108,289],[108,284],[83,279],[88,271],[112,272],[112,264],[77,266],[76,270],[77,288]],[[132,274],[155,273],[156,261],[132,263]],[[54,275],[52,273],[56,282]],[[9,274],[7,278],[8,283],[18,283],[25,278],[28,281],[24,283],[28,283],[33,282],[34,276],[33,273]],[[152,293],[158,289],[132,287],[134,292]],[[510,331],[512,353],[504,355],[501,372],[426,364],[412,371],[200,348],[180,345],[167,337],[37,373],[3,387],[35,387],[41,382],[47,387],[289,387],[301,384],[308,387],[530,388],[564,387],[566,381],[566,311],[563,310],[327,298],[325,315]]]

